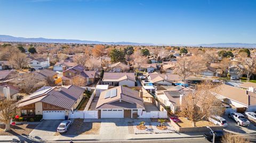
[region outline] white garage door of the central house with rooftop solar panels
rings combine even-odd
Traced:
[[[101,118],[123,118],[123,110],[101,110]]]

